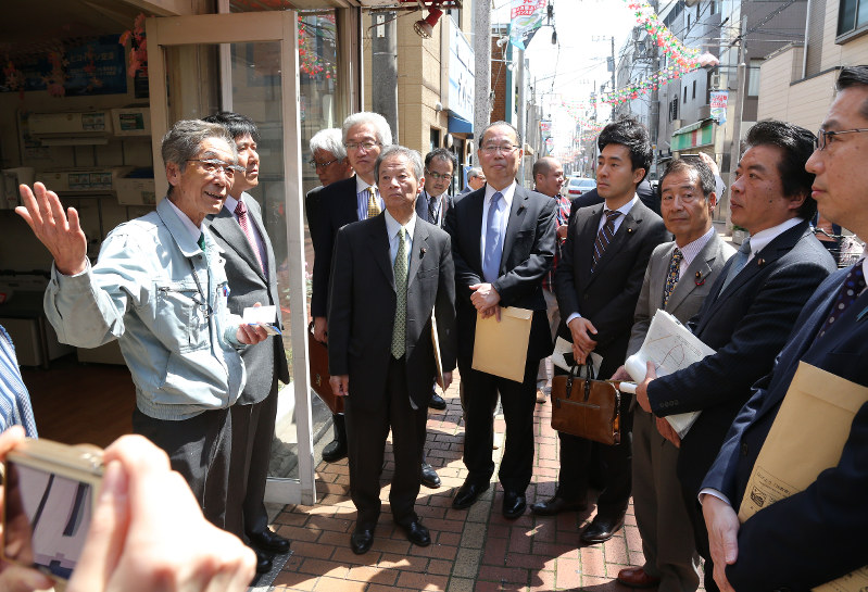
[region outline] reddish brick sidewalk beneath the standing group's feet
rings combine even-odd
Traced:
[[[457,374],[457,373],[456,373]],[[393,526],[389,488],[382,489],[382,513],[373,549],[365,555],[350,550],[355,508],[349,497],[347,461],[317,467],[319,503],[288,505],[274,528],[292,540],[293,555],[273,590],[344,591],[530,591],[629,590],[614,578],[627,565],[642,565],[642,545],[632,503],[624,530],[602,545],[579,549],[579,531],[593,508],[557,517],[537,517],[528,511],[517,520],[501,516],[500,486],[489,489],[469,509],[452,509],[455,490],[467,474],[462,463],[464,425],[457,383],[446,392],[444,412],[429,410],[428,462],[443,484],[423,488],[416,511],[431,531],[428,547],[413,546]],[[557,434],[552,430],[551,404],[537,405],[533,479],[528,505],[551,496],[557,480]],[[495,419],[495,441],[502,441],[504,421]],[[500,465],[502,449],[494,451]],[[391,478],[391,445],[387,445],[382,481]],[[496,470],[494,471],[496,478]]]

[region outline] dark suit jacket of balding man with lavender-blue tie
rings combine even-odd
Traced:
[[[452,257],[455,262],[455,308],[458,330],[458,355],[468,365],[474,355],[476,308],[470,302],[474,284],[485,282],[482,274],[482,187],[455,200],[446,211],[445,230],[452,237]],[[549,328],[542,278],[552,266],[555,249],[553,199],[515,187],[513,204],[506,224],[503,255],[493,287],[501,297],[501,306],[519,306],[533,311],[527,358],[542,360],[552,353],[552,332]]]

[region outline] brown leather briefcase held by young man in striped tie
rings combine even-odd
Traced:
[[[552,378],[552,427],[603,444],[618,444],[620,396],[614,383],[594,380],[590,364],[573,366],[569,375]]]

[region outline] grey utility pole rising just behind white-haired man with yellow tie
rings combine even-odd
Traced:
[[[374,40],[372,50],[372,108],[389,122],[392,141],[398,138],[398,22],[394,12],[373,15]]]

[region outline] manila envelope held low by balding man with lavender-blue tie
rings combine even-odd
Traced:
[[[477,314],[473,368],[524,381],[532,318],[533,311],[515,306],[501,308],[500,323],[494,315],[482,318]]]

